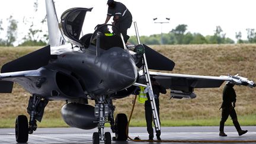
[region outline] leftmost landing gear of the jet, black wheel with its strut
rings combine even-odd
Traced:
[[[28,134],[33,134],[37,129],[37,121],[41,122],[43,118],[44,108],[48,104],[48,100],[41,100],[38,95],[33,95],[28,101],[27,112],[30,115],[28,122],[27,116],[20,115],[15,122],[15,136],[18,143],[28,141]]]

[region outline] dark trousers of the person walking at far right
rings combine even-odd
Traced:
[[[222,119],[220,120],[220,132],[224,132],[224,124],[228,119],[228,116],[231,116],[233,124],[237,131],[241,130],[240,124],[238,123],[237,115],[235,108],[233,107],[223,107],[222,108]]]

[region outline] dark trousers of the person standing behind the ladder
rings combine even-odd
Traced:
[[[155,99],[155,103],[156,103],[156,110],[158,112],[158,117],[159,117],[159,100]],[[153,114],[152,114],[151,103],[149,100],[146,101],[146,103],[145,103],[145,117],[146,117],[146,124],[147,124],[147,130],[149,133],[149,137],[153,138],[153,127],[152,127]],[[153,123],[155,124],[155,121],[153,121]],[[160,117],[159,117],[159,123],[161,124]],[[161,131],[157,130],[156,136],[160,136],[160,135],[161,135]]]

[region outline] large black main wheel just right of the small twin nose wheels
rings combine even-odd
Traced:
[[[127,135],[126,135],[126,127],[128,124],[127,116],[126,114],[117,114],[116,116],[116,140],[118,141],[126,141]]]

